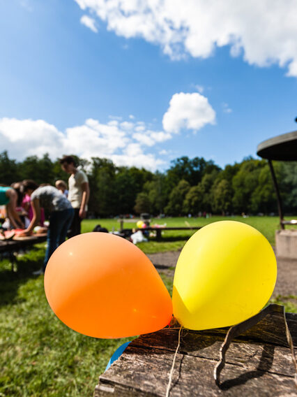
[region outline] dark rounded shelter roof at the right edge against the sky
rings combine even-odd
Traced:
[[[264,140],[259,143],[257,154],[268,160],[297,161],[297,131]]]

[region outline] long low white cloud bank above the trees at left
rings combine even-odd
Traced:
[[[137,131],[142,127],[142,131]],[[147,153],[170,134],[146,129],[143,122],[119,122],[110,120],[102,124],[88,119],[84,124],[59,131],[44,120],[0,119],[0,147],[8,150],[10,157],[22,160],[27,156],[50,154],[52,159],[65,153],[79,157],[105,157],[119,166],[137,166],[155,171],[165,161]]]

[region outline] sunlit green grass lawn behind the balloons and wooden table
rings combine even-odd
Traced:
[[[153,219],[167,226],[202,226],[222,217]],[[274,244],[277,217],[233,217],[256,227]],[[96,224],[109,231],[119,229],[115,219],[86,220],[84,232]],[[125,228],[136,223],[124,223]],[[139,244],[146,253],[180,250],[191,231],[163,232],[163,241]],[[80,335],[64,326],[47,304],[43,276],[31,275],[41,267],[44,244],[18,257],[17,273],[8,259],[0,261],[0,396],[92,396],[98,375],[105,370],[114,350],[128,339],[100,340]],[[164,277],[171,291],[172,281]],[[283,303],[282,297],[277,303]],[[287,310],[296,311],[292,304]],[[4,363],[4,365],[3,365]]]

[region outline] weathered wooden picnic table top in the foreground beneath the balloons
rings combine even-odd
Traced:
[[[297,314],[287,313],[286,318],[296,345]],[[178,331],[165,328],[133,340],[120,358],[100,375],[94,397],[165,396]],[[234,338],[216,383],[213,372],[226,333],[227,329],[182,329],[169,396],[297,395],[295,368],[282,312],[267,315]]]

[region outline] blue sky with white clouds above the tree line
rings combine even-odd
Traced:
[[[295,0],[2,1],[0,50],[0,147],[15,159],[224,167],[296,129]]]

